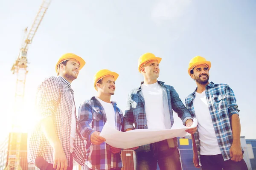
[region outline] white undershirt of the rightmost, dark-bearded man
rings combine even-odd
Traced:
[[[195,92],[193,100],[195,116],[198,120],[198,133],[201,155],[221,154],[217,137],[212,123],[211,114],[207,105],[205,91],[201,94]]]

